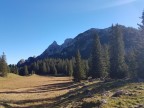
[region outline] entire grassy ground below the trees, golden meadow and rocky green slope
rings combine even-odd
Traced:
[[[119,96],[113,96],[122,91]],[[104,102],[101,104],[101,102]],[[100,105],[100,106],[99,106]],[[144,82],[10,74],[0,78],[0,108],[144,108]]]

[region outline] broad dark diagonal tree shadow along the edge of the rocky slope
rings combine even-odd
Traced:
[[[66,107],[66,105],[68,105],[69,103],[80,102],[83,98],[88,97],[88,93],[86,91],[89,88],[90,88],[89,92],[91,93],[91,95],[94,95],[96,93],[102,93],[104,90],[109,91],[109,90],[118,89],[129,83],[132,83],[132,81],[131,80],[114,80],[111,82],[96,82],[88,86],[83,86],[80,89],[76,89],[75,91],[72,91],[60,97],[57,97],[56,98],[57,101],[50,108],[59,108],[60,106]],[[38,108],[38,107],[35,107],[35,108]]]

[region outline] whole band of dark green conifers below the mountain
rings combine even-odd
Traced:
[[[144,12],[142,24],[139,24],[140,33],[144,36]],[[81,58],[77,49],[76,56],[71,59],[47,58],[37,60],[29,65],[17,67],[9,65],[7,68],[6,57],[0,58],[0,74],[6,76],[7,72],[19,75],[65,75],[73,76],[74,81],[92,78],[144,78],[144,47],[132,48],[125,52],[123,34],[119,25],[112,25],[109,43],[101,45],[100,36],[95,34],[91,56],[88,60]],[[8,71],[9,70],[9,71]]]

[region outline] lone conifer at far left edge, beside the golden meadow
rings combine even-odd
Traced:
[[[3,55],[0,57],[0,74],[2,77],[6,77],[8,73],[8,66],[6,63],[6,55],[3,53]]]

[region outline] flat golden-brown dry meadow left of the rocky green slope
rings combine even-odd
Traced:
[[[48,106],[56,97],[67,93],[71,84],[69,77],[21,77],[10,74],[7,78],[0,78],[0,108]]]

